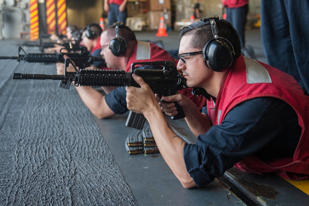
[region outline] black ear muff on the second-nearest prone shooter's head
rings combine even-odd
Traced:
[[[109,49],[112,51],[115,56],[122,56],[125,54],[127,48],[127,42],[124,38],[118,36],[119,27],[121,27],[121,22],[116,22],[113,24],[115,27],[116,36],[109,41]]]

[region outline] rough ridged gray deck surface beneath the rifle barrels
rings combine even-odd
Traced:
[[[0,41],[0,55],[17,56],[16,41]],[[0,205],[137,205],[76,90],[13,72],[56,69],[0,60]]]

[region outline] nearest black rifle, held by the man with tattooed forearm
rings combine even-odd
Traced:
[[[66,68],[72,64],[70,59],[65,61]],[[135,69],[135,65],[154,65],[163,66],[163,69]],[[73,65],[74,66],[74,65]],[[143,80],[150,86],[150,89],[155,94],[161,96],[170,96],[176,94],[178,90],[182,90],[186,86],[186,79],[177,71],[176,63],[174,61],[162,62],[138,62],[131,64],[130,72],[124,70],[89,70],[81,69],[80,71],[74,66],[75,72],[68,72],[65,69],[64,75],[47,75],[47,74],[27,74],[27,73],[13,73],[13,79],[52,79],[61,80],[63,84],[73,82],[75,86],[135,86],[140,87],[134,81],[132,74],[136,74],[143,78]],[[182,108],[177,102],[174,102],[178,114],[172,116],[173,120],[185,117]],[[145,117],[142,114],[134,112],[129,113],[125,125],[136,129],[142,129],[145,123]]]

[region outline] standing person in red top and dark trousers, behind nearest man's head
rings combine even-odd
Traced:
[[[241,48],[245,47],[245,25],[248,14],[248,0],[221,0],[226,8],[226,20],[236,29]]]

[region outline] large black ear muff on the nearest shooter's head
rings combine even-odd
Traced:
[[[201,19],[203,22],[210,22],[214,35],[214,38],[210,39],[204,46],[203,58],[208,68],[214,70],[215,72],[221,72],[234,64],[235,52],[232,44],[227,39],[218,37],[218,30],[215,20],[219,20],[219,17],[210,16]]]

